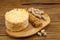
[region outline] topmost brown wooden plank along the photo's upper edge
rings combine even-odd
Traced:
[[[1,0],[0,3],[20,3],[20,4],[28,4],[28,3],[60,3],[60,0]]]

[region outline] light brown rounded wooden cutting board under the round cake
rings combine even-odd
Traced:
[[[41,22],[43,25],[40,27],[36,28],[29,23],[28,27],[20,32],[12,32],[12,31],[9,31],[8,29],[6,29],[6,32],[8,35],[16,38],[28,37],[28,36],[34,35],[50,23],[50,17],[48,16],[48,14],[45,13],[44,16],[46,18],[46,21],[41,19]]]

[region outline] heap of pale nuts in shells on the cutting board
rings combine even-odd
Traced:
[[[28,11],[31,12],[36,17],[42,18],[43,20],[46,20],[46,18],[43,16],[44,11],[36,9],[36,8],[29,8]]]

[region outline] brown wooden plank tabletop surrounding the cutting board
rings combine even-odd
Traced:
[[[60,40],[60,1],[52,0],[51,1],[23,1],[23,4],[21,5],[21,1],[0,1],[0,40]],[[36,4],[36,3],[37,4]],[[25,4],[26,3],[26,4]],[[29,7],[35,7],[39,8],[41,10],[44,10],[45,13],[48,13],[48,15],[51,18],[51,23],[46,26],[44,29],[46,29],[47,36],[46,37],[39,37],[37,34],[27,37],[27,38],[12,38],[8,36],[5,32],[5,23],[4,23],[4,15],[7,11],[13,9],[13,8],[29,8]]]

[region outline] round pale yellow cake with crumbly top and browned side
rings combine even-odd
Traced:
[[[11,31],[20,31],[28,27],[29,14],[25,9],[13,9],[5,14],[6,28]]]

